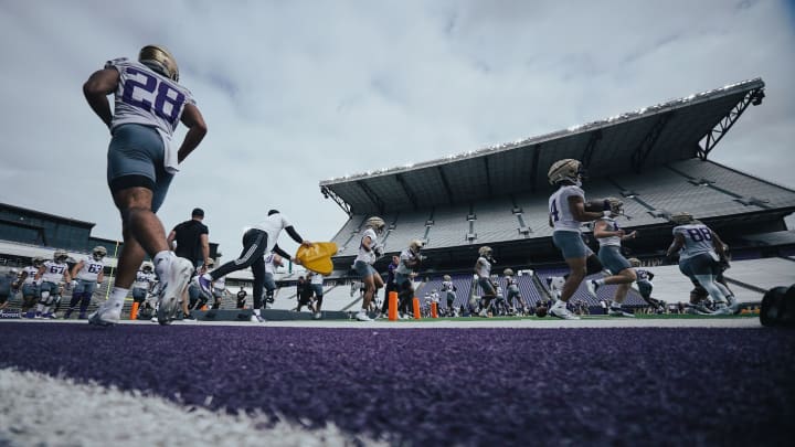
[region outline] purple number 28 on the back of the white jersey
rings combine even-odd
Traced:
[[[157,116],[169,121],[171,126],[176,126],[182,103],[184,102],[184,95],[149,73],[141,72],[135,67],[127,67],[126,71],[129,77],[125,82],[121,100],[147,111],[153,110]],[[136,88],[153,95],[155,104],[152,105],[146,97],[136,99],[132,95]],[[166,110],[167,104],[171,106],[169,111]]]

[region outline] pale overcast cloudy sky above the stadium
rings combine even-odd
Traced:
[[[225,259],[271,207],[330,240],[347,215],[320,180],[753,77],[767,85],[763,106],[711,157],[795,188],[793,3],[0,0],[0,202],[120,237],[109,136],[81,88],[149,43],[172,51],[210,129],[159,214],[169,230],[203,207]]]

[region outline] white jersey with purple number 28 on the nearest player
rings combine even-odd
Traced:
[[[148,66],[126,57],[108,61],[119,72],[112,128],[125,124],[155,127],[171,137],[186,104],[195,105],[190,91]]]

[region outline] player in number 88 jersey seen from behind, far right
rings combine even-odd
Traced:
[[[703,287],[716,302],[713,315],[731,315],[732,309],[724,292],[716,285],[721,273],[720,259],[725,258],[723,242],[718,234],[688,212],[671,214],[674,242],[666,256],[671,258],[679,253],[679,272]]]

